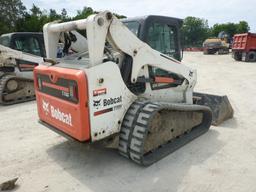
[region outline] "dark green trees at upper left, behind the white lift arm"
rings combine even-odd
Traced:
[[[32,8],[27,11],[26,7],[22,4],[21,0],[1,0],[0,1],[0,35],[15,31],[30,31],[40,32],[44,24],[55,21],[70,21],[77,19],[85,19],[91,14],[98,13],[91,7],[84,7],[78,10],[76,16],[73,18],[68,16],[67,10],[62,9],[61,13],[56,10],[50,9],[41,10],[33,4]],[[115,14],[118,18],[125,18],[123,15]],[[82,32],[85,34],[85,31]]]

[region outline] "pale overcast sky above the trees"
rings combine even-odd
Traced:
[[[256,32],[256,0],[22,0],[30,9],[34,3],[41,9],[66,8],[69,15],[75,15],[84,6],[94,10],[110,10],[128,17],[142,15],[165,15],[185,18],[205,18],[209,25],[245,20]]]

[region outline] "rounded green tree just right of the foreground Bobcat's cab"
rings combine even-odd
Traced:
[[[197,17],[186,17],[182,26],[185,47],[200,47],[209,36],[208,21]]]

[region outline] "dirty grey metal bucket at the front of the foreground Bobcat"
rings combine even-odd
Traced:
[[[211,108],[213,113],[212,125],[218,126],[234,115],[234,110],[226,95],[219,96],[194,92],[193,101],[194,104],[205,105]]]

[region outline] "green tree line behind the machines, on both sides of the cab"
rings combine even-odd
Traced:
[[[21,0],[0,1],[0,35],[10,32],[39,32],[45,23],[62,20],[70,21],[83,19],[91,14],[98,13],[91,7],[78,10],[71,17],[63,8],[60,13],[55,9],[42,10],[33,4],[27,9]],[[118,18],[126,18],[124,15],[115,14]],[[209,37],[217,37],[219,32],[224,31],[230,37],[237,33],[245,33],[250,30],[246,21],[238,23],[222,23],[209,27],[208,21],[197,17],[186,17],[182,27],[182,40],[184,47],[200,47],[203,41]]]

